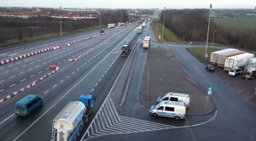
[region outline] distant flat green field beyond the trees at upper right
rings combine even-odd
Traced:
[[[256,29],[256,17],[253,18],[212,18],[214,22],[237,31]]]

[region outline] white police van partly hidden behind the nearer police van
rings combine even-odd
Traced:
[[[160,96],[157,99],[157,102],[161,102],[162,100],[170,100],[170,101],[179,101],[179,102],[183,102],[184,104],[186,104],[186,107],[189,107],[189,94],[185,94],[185,93],[166,93],[165,96]]]

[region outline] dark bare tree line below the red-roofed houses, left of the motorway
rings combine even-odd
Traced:
[[[54,10],[54,9],[51,9]],[[59,13],[57,10],[53,13]],[[32,17],[28,19],[0,17],[0,43],[10,39],[18,38],[22,40],[24,37],[34,37],[44,34],[72,32],[79,29],[85,29],[100,24],[117,23],[121,20],[128,21],[128,13],[122,10],[104,10],[98,13],[96,19],[55,19],[49,17]]]

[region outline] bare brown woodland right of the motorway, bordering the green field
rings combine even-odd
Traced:
[[[164,19],[164,12],[166,12],[166,28],[174,31],[177,37],[185,42],[207,41],[209,14],[207,9],[168,9],[160,14],[161,22]],[[217,31],[214,42],[256,51],[256,29],[236,31],[226,29],[211,20],[208,42],[212,42],[214,31]]]

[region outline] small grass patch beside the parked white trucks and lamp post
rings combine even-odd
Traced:
[[[206,48],[187,48],[189,54],[192,54],[196,59],[204,64],[210,63],[210,56],[212,52],[220,50],[219,48],[207,48],[208,57],[205,57]]]

